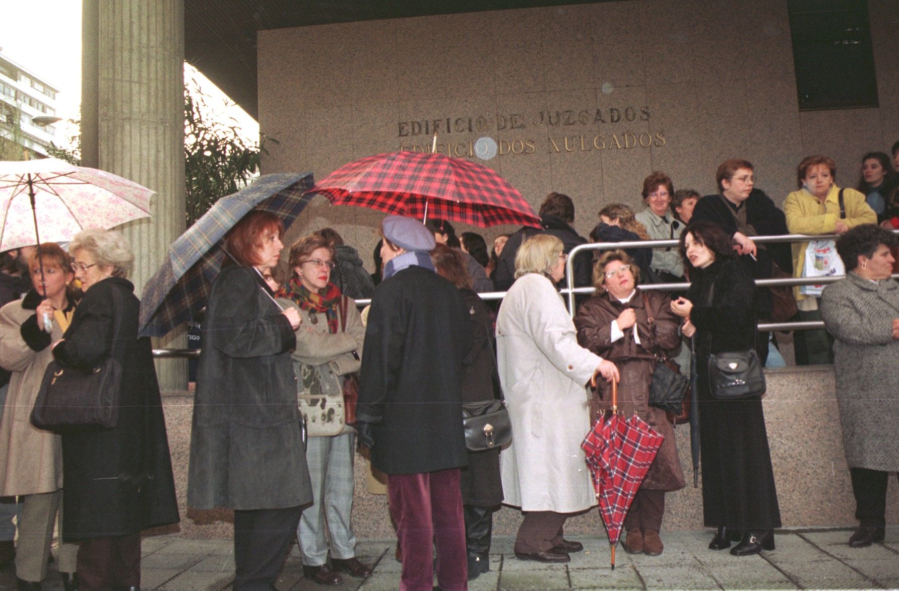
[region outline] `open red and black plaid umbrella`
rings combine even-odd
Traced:
[[[391,152],[344,164],[308,190],[333,205],[370,207],[397,216],[427,216],[478,225],[540,225],[509,181],[463,158]]]

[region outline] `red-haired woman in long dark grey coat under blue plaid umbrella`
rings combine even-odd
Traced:
[[[290,362],[299,314],[263,279],[284,225],[251,211],[225,235],[235,263],[212,284],[203,319],[187,504],[234,509],[234,588],[274,587],[312,500]]]

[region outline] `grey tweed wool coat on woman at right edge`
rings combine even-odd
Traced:
[[[824,327],[836,340],[833,366],[850,468],[899,471],[899,283],[850,272],[824,288]]]

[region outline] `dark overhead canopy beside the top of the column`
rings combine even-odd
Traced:
[[[256,31],[611,0],[184,0],[184,59],[258,119]]]

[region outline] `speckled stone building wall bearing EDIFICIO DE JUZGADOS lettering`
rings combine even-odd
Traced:
[[[880,107],[806,112],[787,0],[602,2],[260,31],[260,126],[280,142],[264,172],[321,179],[365,155],[430,146],[425,129],[436,122],[442,152],[494,168],[534,207],[551,190],[570,195],[583,235],[605,204],[641,209],[655,170],[706,194],[718,163],[746,158],[757,186],[781,202],[799,161],[824,153],[840,184],[854,186],[862,154],[899,139],[899,3],[868,0],[868,11]],[[500,154],[469,156],[481,137]],[[288,238],[331,225],[370,264],[380,218],[316,198]]]

